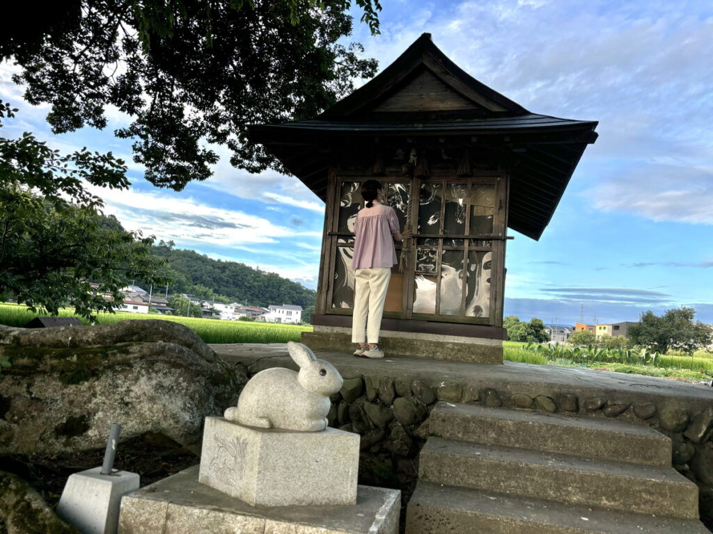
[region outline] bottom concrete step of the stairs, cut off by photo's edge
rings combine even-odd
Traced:
[[[419,481],[406,534],[710,534],[698,520],[506,496]]]

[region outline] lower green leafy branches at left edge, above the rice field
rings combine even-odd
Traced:
[[[0,119],[14,111],[0,101]],[[125,171],[111,152],[61,155],[29,132],[18,140],[0,137],[0,301],[11,298],[52,315],[71,305],[91,317],[121,302],[127,279],[161,280],[153,239],[102,219],[101,199],[83,186],[126,187]]]

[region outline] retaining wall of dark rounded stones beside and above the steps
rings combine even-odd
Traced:
[[[418,476],[418,456],[429,436],[429,413],[436,402],[473,403],[486,407],[531,409],[584,417],[629,419],[648,424],[672,439],[672,463],[697,483],[701,518],[713,524],[713,407],[701,409],[682,399],[670,405],[631,402],[607,396],[578,397],[553,388],[531,397],[457,381],[436,387],[421,379],[388,375],[344,376],[342,390],[332,396],[329,424],[361,435],[359,476],[362,483],[399,487],[407,500]],[[616,461],[612,458],[612,461]]]

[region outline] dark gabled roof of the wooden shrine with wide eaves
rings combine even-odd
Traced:
[[[597,139],[596,127],[526,110],[468,75],[424,33],[321,115],[252,125],[250,137],[324,201],[335,152],[350,140],[438,137],[501,147],[510,151],[508,226],[539,239],[585,147]]]

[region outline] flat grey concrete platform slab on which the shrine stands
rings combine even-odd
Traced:
[[[244,366],[250,376],[270,367],[297,370],[287,354],[287,345],[283,343],[214,344],[210,347],[223,360]],[[670,407],[684,409],[691,415],[713,406],[713,387],[619,372],[508,361],[503,365],[435,361],[388,354],[382,360],[369,360],[354,357],[351,352],[327,350],[315,350],[314,354],[332,363],[345,379],[364,377],[366,389],[369,389],[369,383],[378,388],[381,379],[390,379],[394,382],[396,397],[414,394],[404,392],[404,386],[399,388],[399,384],[409,384],[410,387],[416,380],[433,390],[434,400],[437,397],[448,402],[472,402],[480,397],[480,401],[487,404],[482,394],[493,391],[501,399],[501,403],[496,404],[505,406],[511,404],[509,401],[515,394],[531,399],[549,397],[555,403],[558,398],[567,397],[570,401],[561,403],[555,411],[583,412],[592,417],[603,417],[602,406],[586,409],[584,404],[588,399],[602,399],[604,403],[624,402],[632,408],[636,404],[655,404],[658,412]],[[369,392],[366,394],[368,397]],[[571,405],[573,397],[579,401],[577,407]],[[635,417],[632,412],[633,409],[627,409],[617,416]]]

